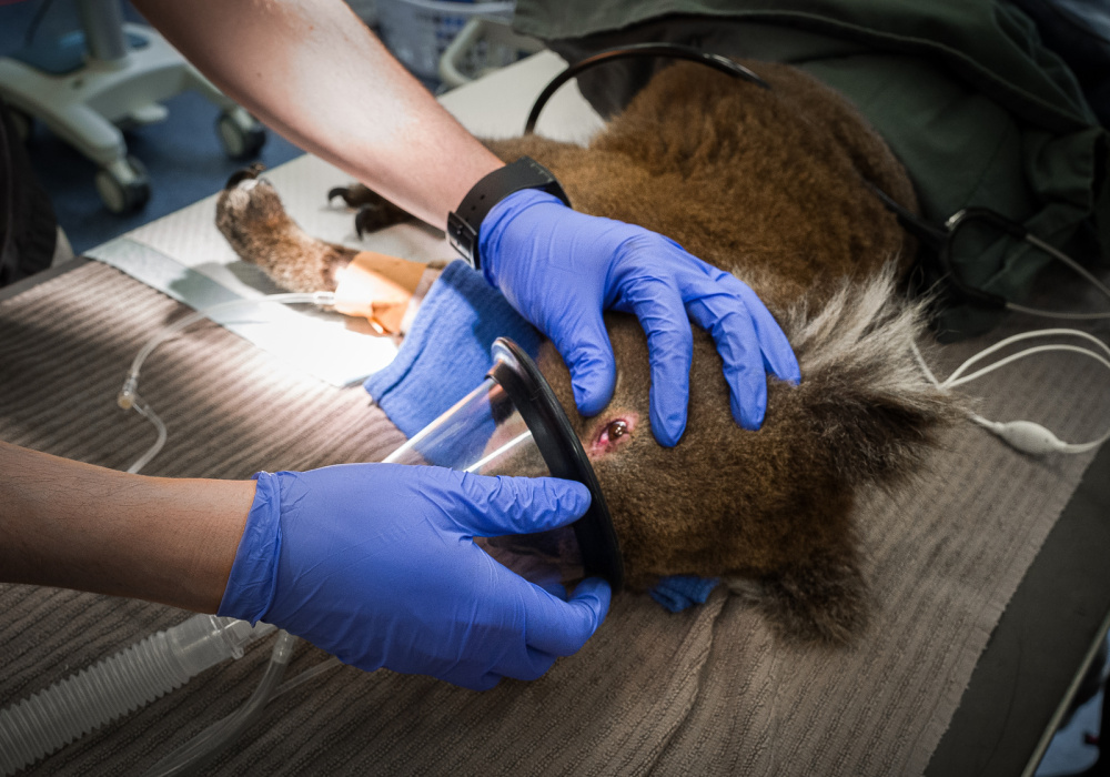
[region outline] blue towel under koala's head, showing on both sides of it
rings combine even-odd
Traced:
[[[541,334],[463,262],[448,264],[421,303],[396,357],[363,384],[411,437],[485,380],[490,349],[509,337],[535,357]],[[673,613],[705,602],[716,579],[665,577],[652,597]]]

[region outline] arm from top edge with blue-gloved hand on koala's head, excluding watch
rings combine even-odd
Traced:
[[[135,4],[230,97],[431,224],[446,226],[466,192],[502,165],[341,0]],[[734,417],[758,428],[767,371],[791,382],[800,375],[754,292],[660,235],[620,230],[618,238],[609,222],[537,196],[515,192],[486,214],[483,274],[555,343],[579,411],[593,415],[613,396],[616,366],[602,319],[613,307],[635,313],[647,333],[652,430],[662,444],[675,445],[686,428],[690,316],[717,342]]]

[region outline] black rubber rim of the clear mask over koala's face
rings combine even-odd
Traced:
[[[604,577],[614,591],[624,584],[620,545],[613,528],[613,517],[602,495],[602,486],[578,436],[566,417],[555,392],[536,363],[519,345],[507,337],[494,341],[491,354],[494,366],[486,377],[495,380],[519,412],[539,454],[553,477],[576,481],[589,488],[586,514],[572,527],[582,551],[587,575]]]

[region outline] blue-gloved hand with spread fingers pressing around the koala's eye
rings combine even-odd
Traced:
[[[616,384],[603,310],[634,313],[647,333],[652,430],[663,445],[675,445],[686,428],[689,319],[717,343],[733,417],[744,428],[763,423],[767,372],[800,380],[786,335],[755,292],[663,235],[526,189],[486,214],[478,239],[486,280],[563,355],[584,415],[598,413]]]

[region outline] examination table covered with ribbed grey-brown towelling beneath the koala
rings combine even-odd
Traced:
[[[512,133],[557,69],[557,58],[541,54],[445,104],[472,130]],[[548,108],[554,118],[545,113],[551,132],[588,134],[596,117],[573,93],[562,100]],[[270,176],[309,233],[369,245],[356,241],[349,213],[324,208],[326,190],[346,182],[342,173],[305,157]],[[250,274],[232,261],[213,211],[210,198],[130,233],[128,244],[202,274],[210,263],[222,264],[210,274]],[[396,229],[379,250],[451,256],[427,230]],[[185,309],[131,275],[84,259],[0,290],[0,438],[117,468],[147,450],[153,432],[114,397],[135,352]],[[1082,290],[1072,299],[1099,304]],[[1005,334],[1039,326],[1010,321],[946,346],[935,367],[947,374]],[[1107,339],[1104,325],[1091,331]],[[970,393],[982,397],[983,415],[1033,418],[1078,442],[1110,423],[1108,386],[1091,360],[1052,354]],[[161,346],[142,393],[169,426],[169,443],[144,470],[151,475],[249,477],[373,461],[402,441],[360,386],[329,385],[214,324]],[[784,644],[720,589],[679,614],[626,593],[586,647],[537,682],[478,694],[340,667],[273,699],[214,770],[1020,774],[1106,633],[1108,475],[1106,450],[1032,458],[961,423],[917,482],[859,506],[875,602],[850,648]],[[0,586],[0,703],[184,617],[143,602]],[[254,644],[28,774],[141,773],[241,704],[269,648],[269,638]],[[286,677],[325,659],[302,644]]]

